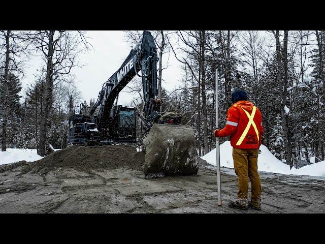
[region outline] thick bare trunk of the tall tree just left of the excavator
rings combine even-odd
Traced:
[[[55,31],[48,32],[48,54],[47,54],[47,68],[46,68],[46,78],[45,78],[45,90],[42,102],[42,112],[41,112],[41,124],[40,124],[40,143],[38,148],[38,155],[45,156],[45,146],[46,146],[46,129],[47,121],[49,115],[49,109],[51,107],[50,101],[52,97],[52,73],[53,73],[53,37]]]

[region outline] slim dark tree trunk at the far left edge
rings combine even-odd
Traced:
[[[7,150],[7,123],[8,123],[8,84],[9,84],[9,36],[10,31],[7,31],[6,38],[6,61],[5,61],[5,77],[4,77],[4,102],[3,102],[3,124],[2,124],[2,141],[1,150]]]

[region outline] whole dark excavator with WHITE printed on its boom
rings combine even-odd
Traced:
[[[98,99],[89,114],[75,112],[69,119],[69,144],[105,145],[137,142],[137,118],[141,118],[142,134],[148,133],[154,123],[180,124],[181,115],[160,113],[161,100],[157,98],[157,50],[149,31],[129,52],[121,67],[102,85]],[[141,71],[141,75],[138,74]],[[135,77],[142,79],[143,111],[136,107],[117,105],[121,90]],[[95,115],[95,112],[98,113]]]

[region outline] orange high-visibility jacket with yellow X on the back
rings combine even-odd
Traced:
[[[231,145],[241,149],[256,149],[261,145],[262,113],[253,103],[238,101],[228,110],[225,127],[215,136],[231,136]]]

